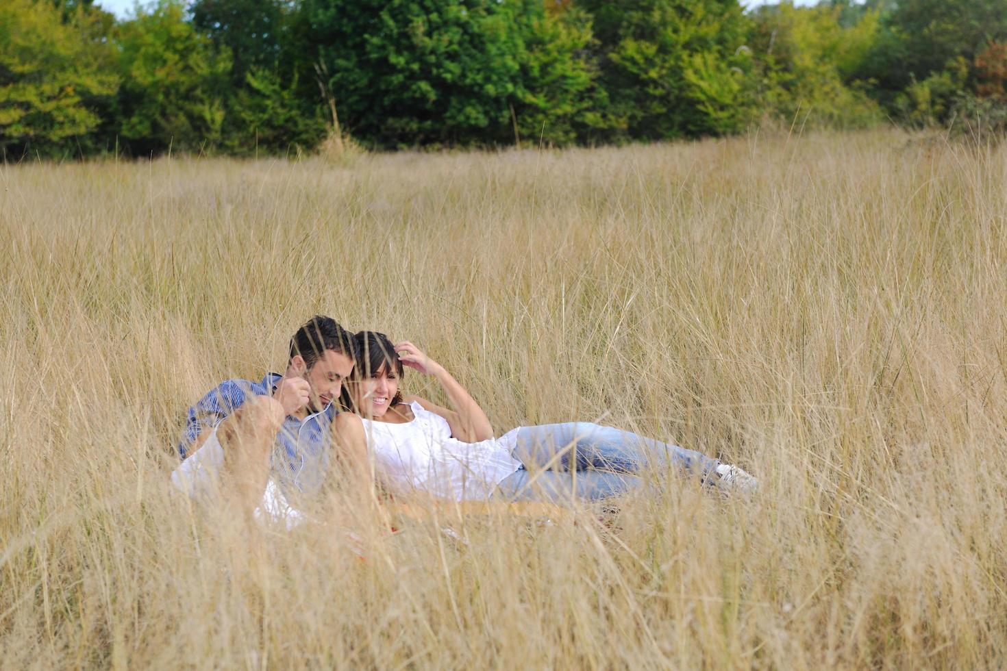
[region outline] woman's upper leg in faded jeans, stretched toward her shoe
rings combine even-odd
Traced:
[[[636,473],[645,466],[670,465],[704,479],[720,465],[694,450],[582,422],[523,427],[518,431],[514,457],[533,470]]]

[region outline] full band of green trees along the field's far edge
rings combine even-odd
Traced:
[[[1007,0],[0,3],[6,160],[1002,129]]]

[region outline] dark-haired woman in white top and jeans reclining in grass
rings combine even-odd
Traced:
[[[698,452],[594,424],[521,427],[493,437],[485,412],[416,345],[381,333],[354,335],[357,355],[334,420],[348,454],[373,459],[393,495],[425,493],[454,501],[562,502],[600,499],[642,485],[640,468],[674,467],[722,489],[751,492],[756,480]],[[400,390],[404,367],[433,376],[451,408]],[[370,450],[369,450],[370,448]]]

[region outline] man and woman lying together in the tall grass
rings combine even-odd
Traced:
[[[405,395],[411,368],[434,377],[450,407]],[[176,487],[227,496],[257,515],[296,522],[288,500],[338,475],[396,499],[454,502],[602,499],[640,487],[640,469],[674,469],[722,490],[754,490],[741,469],[610,427],[568,423],[497,435],[443,366],[411,342],[350,334],[313,317],[290,341],[283,375],[223,382],[188,409]]]

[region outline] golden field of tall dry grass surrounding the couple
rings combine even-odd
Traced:
[[[1007,149],[895,131],[0,168],[0,666],[1002,668]],[[310,315],[499,432],[736,463],[540,526],[246,527],[187,404]],[[407,390],[433,393],[408,375]]]

